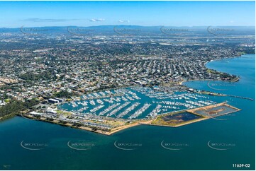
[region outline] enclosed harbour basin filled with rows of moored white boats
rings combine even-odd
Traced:
[[[118,96],[114,96],[118,94]],[[212,105],[208,95],[166,92],[159,86],[106,90],[82,95],[79,100],[59,105],[59,110],[123,119],[155,118],[157,114]]]

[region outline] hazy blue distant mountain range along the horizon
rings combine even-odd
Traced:
[[[24,34],[71,34],[71,35],[255,35],[254,26],[140,26],[140,25],[99,25],[99,26],[49,26],[26,28],[0,28],[0,33]]]

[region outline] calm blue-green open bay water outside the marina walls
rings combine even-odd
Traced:
[[[235,86],[216,84],[228,90],[213,90],[207,81],[184,84],[255,98],[255,55],[213,61],[207,67],[238,74],[241,79]],[[208,119],[177,128],[135,126],[113,136],[14,117],[0,123],[0,170],[233,170],[233,164],[250,164],[243,170],[254,170],[255,101],[213,98],[216,102],[224,100],[242,110],[219,117],[221,120]],[[85,151],[67,146],[68,142],[81,141],[93,146]],[[73,145],[84,148],[84,143]],[[33,149],[38,144],[45,146],[31,151],[21,144]]]

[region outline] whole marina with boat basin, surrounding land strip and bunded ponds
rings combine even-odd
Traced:
[[[176,127],[238,111],[218,97],[225,96],[177,84],[137,86],[72,97],[72,101],[49,105],[44,112],[22,116],[111,135],[140,124]]]

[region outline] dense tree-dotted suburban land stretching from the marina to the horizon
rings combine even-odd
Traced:
[[[48,112],[53,118],[48,122],[55,122],[54,115],[69,114],[56,111],[55,103],[81,100],[80,96],[100,90],[153,86],[167,90],[182,81],[239,81],[238,76],[207,69],[206,63],[255,53],[255,35],[213,35],[207,30],[196,35],[187,30],[182,30],[184,35],[170,35],[165,34],[167,30],[155,29],[159,33],[154,31],[152,35],[150,31],[140,35],[138,30],[130,30],[135,32],[133,35],[123,34],[124,29],[115,27],[113,33],[108,30],[94,34],[74,34],[77,30],[70,28],[54,34],[43,30],[32,34],[24,28],[2,30],[0,118],[30,112],[27,117],[33,119],[32,115]],[[87,126],[94,129],[103,118],[94,116],[94,122],[90,119]],[[112,122],[113,118],[106,120]],[[67,122],[65,117],[62,124]],[[118,126],[124,122],[126,119],[115,120]],[[81,126],[81,122],[73,122],[73,126]],[[100,126],[105,131],[108,127]]]

